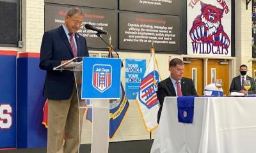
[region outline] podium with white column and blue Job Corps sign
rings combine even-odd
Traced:
[[[92,107],[91,153],[107,153],[109,146],[109,99],[120,98],[121,59],[76,57],[54,68],[74,71],[79,115]],[[85,99],[90,99],[91,104]],[[80,118],[80,117],[79,117]],[[81,125],[79,125],[82,128]],[[80,129],[77,129],[80,131]],[[81,138],[79,138],[79,142]]]

